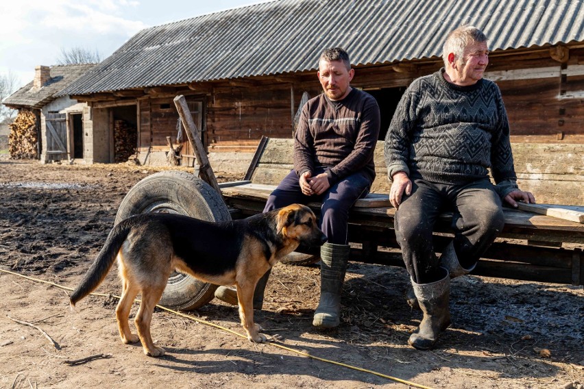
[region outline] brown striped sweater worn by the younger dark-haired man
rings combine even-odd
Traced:
[[[294,170],[324,169],[330,185],[363,171],[373,182],[373,153],[379,136],[379,107],[372,95],[353,88],[341,101],[321,94],[302,108],[294,141]]]

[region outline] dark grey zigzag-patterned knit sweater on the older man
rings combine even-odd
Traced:
[[[416,79],[402,96],[385,138],[389,179],[403,171],[461,185],[487,177],[491,168],[503,198],[518,186],[501,92],[487,79],[457,86],[443,73]]]

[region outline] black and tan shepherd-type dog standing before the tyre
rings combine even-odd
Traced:
[[[150,321],[174,270],[211,284],[234,284],[247,339],[265,342],[267,338],[259,333],[262,328],[254,323],[256,284],[300,242],[320,246],[326,236],[310,208],[299,204],[221,223],[178,214],[132,216],[110,231],[97,259],[71,294],[71,306],[97,288],[117,258],[123,290],[116,318],[122,342],[140,340],[146,355],[165,355],[165,350],[152,342]],[[142,302],[135,319],[136,336],[130,332],[128,316],[138,293]]]

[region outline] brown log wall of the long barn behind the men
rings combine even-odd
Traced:
[[[380,101],[382,116],[387,116],[380,139],[404,88],[442,65],[441,60],[426,60],[356,68],[352,86],[374,94]],[[485,76],[496,81],[501,89],[511,122],[512,142],[584,143],[584,48],[570,49],[570,57],[563,63],[552,59],[548,49],[494,55]],[[291,138],[293,117],[302,93],[308,92],[311,97],[321,93],[315,71],[174,89],[166,95],[154,93],[137,99],[141,162],[146,155],[168,151],[167,136],[175,140],[176,95],[185,95],[187,101],[203,102],[199,123],[208,151],[252,152],[262,136]],[[193,154],[186,139],[181,153]]]

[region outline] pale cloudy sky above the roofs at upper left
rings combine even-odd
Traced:
[[[35,66],[56,64],[63,49],[97,51],[104,60],[147,27],[266,1],[2,0],[0,75],[10,72],[20,88]]]

